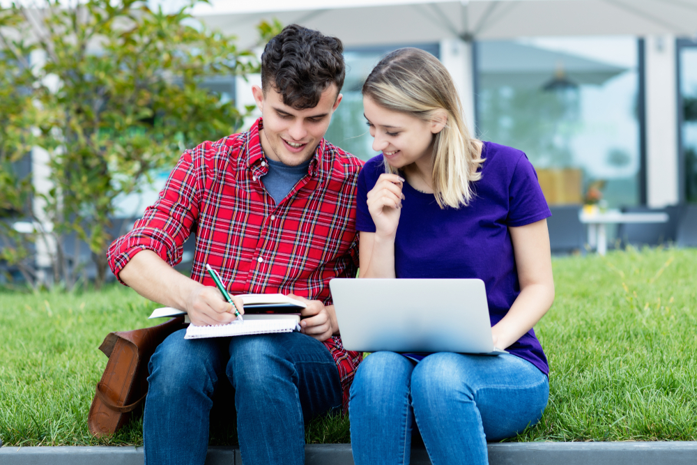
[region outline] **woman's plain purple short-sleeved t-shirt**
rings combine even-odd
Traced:
[[[404,183],[395,237],[398,278],[479,278],[487,287],[491,326],[500,321],[520,294],[520,283],[508,227],[551,216],[537,174],[525,153],[484,142],[482,178],[473,184],[475,197],[461,208],[441,207],[433,194]],[[356,229],[375,232],[367,192],[385,172],[383,155],[369,160],[358,176]],[[547,358],[531,329],[507,348],[544,374]]]

